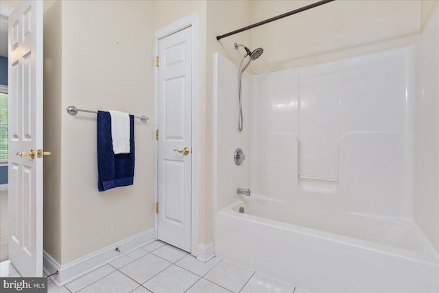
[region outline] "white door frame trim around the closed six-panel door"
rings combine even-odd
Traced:
[[[200,229],[200,14],[193,12],[175,21],[154,34],[154,60],[158,56],[158,41],[171,34],[192,27],[192,155],[191,155],[191,255],[201,257],[198,249]],[[158,129],[158,67],[154,65],[154,128]],[[158,200],[158,141],[154,143],[154,203]],[[157,230],[157,213],[154,212],[154,227]]]

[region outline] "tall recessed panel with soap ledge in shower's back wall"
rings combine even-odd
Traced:
[[[342,62],[298,69],[298,183],[309,191],[337,189]]]

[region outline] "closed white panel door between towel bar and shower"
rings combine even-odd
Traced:
[[[158,239],[191,252],[191,27],[158,41]],[[185,154],[183,150],[189,149]],[[182,152],[178,152],[181,150]]]

